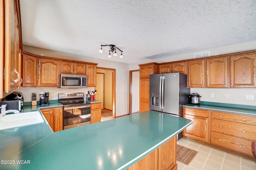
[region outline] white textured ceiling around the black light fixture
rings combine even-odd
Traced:
[[[256,40],[256,0],[20,0],[20,8],[24,45],[123,63]],[[124,57],[99,53],[101,44]]]

